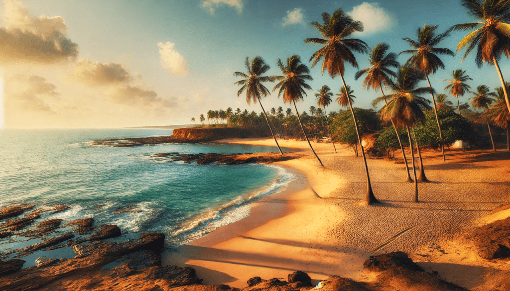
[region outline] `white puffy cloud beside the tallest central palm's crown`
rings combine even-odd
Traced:
[[[361,34],[387,32],[397,26],[397,16],[382,8],[377,2],[363,2],[358,6],[354,6],[348,14],[354,20],[363,22],[364,30]]]

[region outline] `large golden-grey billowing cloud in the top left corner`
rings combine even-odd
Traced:
[[[78,44],[66,37],[60,16],[34,17],[19,0],[4,0],[6,27],[0,28],[0,63],[55,63],[76,58]]]

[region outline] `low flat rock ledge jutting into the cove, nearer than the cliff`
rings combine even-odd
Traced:
[[[166,158],[170,161],[184,161],[185,163],[196,162],[200,165],[208,164],[225,164],[225,165],[239,165],[246,163],[264,163],[271,164],[278,161],[288,161],[300,157],[297,153],[285,153],[284,155],[274,152],[260,152],[260,153],[177,153],[166,152],[150,155],[152,158]]]

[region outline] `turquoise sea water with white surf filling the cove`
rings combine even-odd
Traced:
[[[293,179],[292,174],[270,165],[196,165],[150,157],[163,152],[276,152],[276,147],[115,148],[90,143],[171,133],[162,129],[2,129],[0,207],[65,204],[71,208],[51,218],[93,217],[96,225],[116,224],[126,233],[163,232],[167,242],[176,246],[247,216],[254,201],[281,191]],[[129,205],[138,210],[113,214]]]

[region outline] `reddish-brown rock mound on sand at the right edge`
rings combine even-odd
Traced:
[[[475,228],[468,239],[473,240],[478,255],[485,259],[510,256],[510,218]]]

